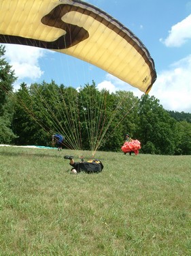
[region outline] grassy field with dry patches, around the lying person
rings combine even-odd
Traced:
[[[191,255],[191,156],[0,147],[0,255]],[[90,152],[84,152],[85,160]]]

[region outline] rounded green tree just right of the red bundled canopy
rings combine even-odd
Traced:
[[[175,124],[159,100],[143,95],[139,102],[139,134],[143,153],[169,154],[175,152]]]

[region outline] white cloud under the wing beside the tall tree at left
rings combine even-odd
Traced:
[[[44,74],[39,66],[39,59],[46,54],[44,49],[6,44],[5,50],[5,58],[18,76],[18,81],[22,79],[35,81]]]

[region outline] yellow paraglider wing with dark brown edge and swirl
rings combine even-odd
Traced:
[[[79,0],[1,0],[0,42],[59,51],[146,94],[156,81],[143,43],[118,20]]]

